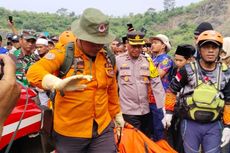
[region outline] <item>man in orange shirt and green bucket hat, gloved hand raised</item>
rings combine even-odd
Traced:
[[[116,66],[107,58],[104,44],[114,35],[108,17],[100,10],[86,9],[73,22],[74,61],[67,75],[52,75],[62,65],[65,48],[51,50],[27,73],[31,85],[56,90],[54,139],[58,153],[114,153],[113,128],[124,126],[118,100]],[[64,93],[64,94],[61,94]],[[114,122],[112,122],[114,119]]]

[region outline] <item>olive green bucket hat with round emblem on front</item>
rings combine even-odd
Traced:
[[[115,39],[109,32],[108,17],[95,8],[84,10],[80,19],[72,23],[71,30],[78,39],[96,44],[108,44]]]

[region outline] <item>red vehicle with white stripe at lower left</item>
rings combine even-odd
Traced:
[[[0,140],[0,153],[5,152],[14,138],[10,153],[41,153],[47,152],[46,142],[42,128],[44,125],[44,110],[48,108],[40,107],[37,102],[37,93],[21,86],[21,95],[17,105],[4,123],[2,138]],[[20,124],[20,126],[18,126]],[[14,134],[16,133],[16,135]],[[15,135],[15,137],[14,137]]]

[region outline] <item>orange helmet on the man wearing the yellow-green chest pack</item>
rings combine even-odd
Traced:
[[[197,45],[200,47],[206,42],[213,42],[217,44],[219,47],[222,47],[223,45],[223,36],[214,30],[207,30],[202,32],[198,39],[197,39]]]

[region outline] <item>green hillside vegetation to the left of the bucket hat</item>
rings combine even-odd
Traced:
[[[60,13],[61,14],[61,13]],[[57,35],[70,27],[77,17],[70,13],[68,16],[51,13],[34,13],[27,11],[9,11],[0,8],[0,28],[9,31],[7,26],[8,16],[13,16],[16,28],[33,29],[37,32],[48,31],[52,35]]]

